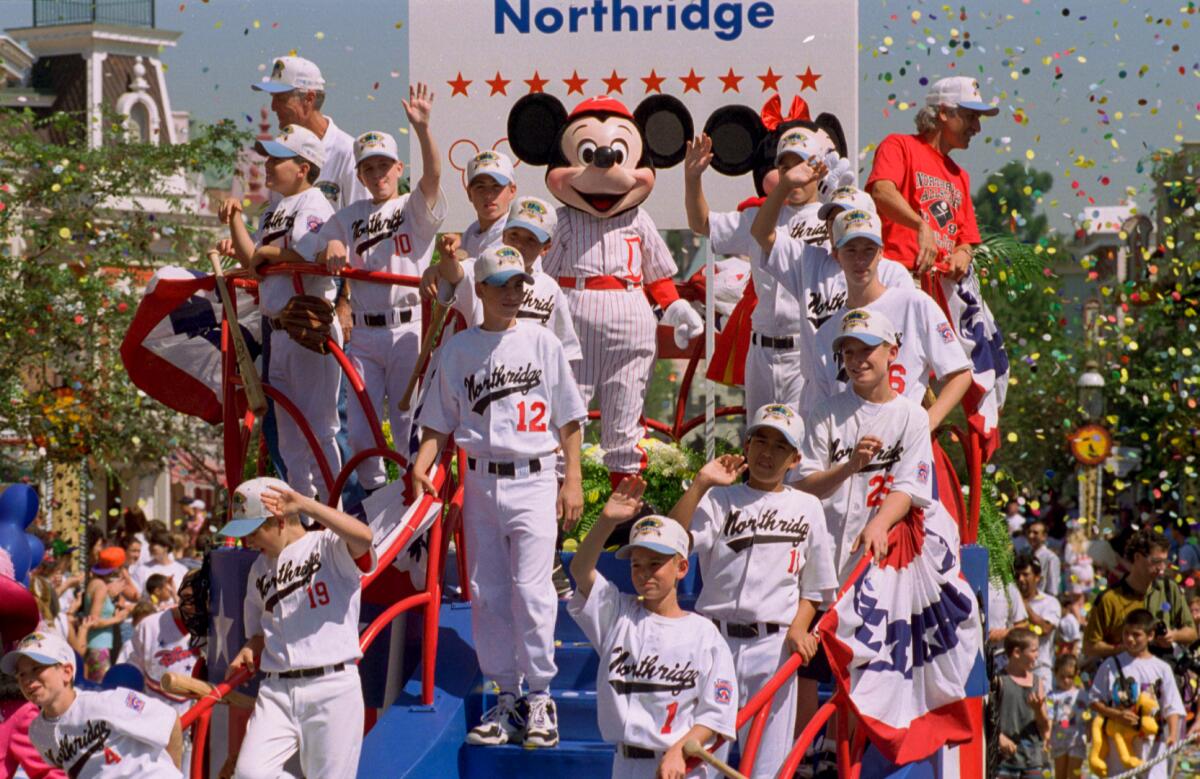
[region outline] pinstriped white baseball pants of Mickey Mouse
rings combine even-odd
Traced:
[[[583,352],[571,362],[584,405],[600,405],[600,447],[612,473],[637,473],[646,465],[638,442],[642,412],[654,372],[658,322],[642,289],[565,289]]]

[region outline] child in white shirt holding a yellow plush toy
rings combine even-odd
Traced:
[[[1138,697],[1144,693],[1154,697],[1158,703],[1156,714],[1159,723],[1158,733],[1139,736],[1132,748],[1134,756],[1142,761],[1153,760],[1175,745],[1184,714],[1171,666],[1150,653],[1150,642],[1154,637],[1154,615],[1146,609],[1134,609],[1126,615],[1121,631],[1123,651],[1100,664],[1088,693],[1094,713],[1106,719],[1123,720],[1132,727],[1138,727],[1140,723],[1136,712]],[[1124,771],[1126,766],[1121,762],[1116,744],[1111,741],[1104,759],[1110,777]],[[1168,775],[1169,767],[1165,761],[1153,766],[1145,774],[1146,779],[1166,779]]]

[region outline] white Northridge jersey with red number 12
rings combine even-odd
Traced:
[[[502,332],[470,328],[442,348],[420,424],[454,433],[473,457],[541,457],[558,431],[587,418],[563,344],[546,328],[516,322]]]

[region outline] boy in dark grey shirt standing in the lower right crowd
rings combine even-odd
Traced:
[[[1004,672],[995,685],[1000,700],[1001,779],[1040,779],[1049,769],[1046,741],[1050,718],[1046,689],[1033,676],[1038,637],[1027,628],[1014,628],[1004,637]]]

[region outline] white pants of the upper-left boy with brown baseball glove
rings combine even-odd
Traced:
[[[342,328],[334,320],[334,341],[341,346]],[[342,469],[342,455],[337,449],[337,386],[341,382],[337,360],[329,354],[318,354],[293,341],[287,331],[271,331],[271,362],[268,383],[283,393],[308,423],[320,451],[329,463],[331,479]],[[280,432],[280,456],[288,469],[288,484],[300,495],[329,499],[329,489],[317,467],[317,459],[308,442],[292,417],[277,403],[275,421]]]

